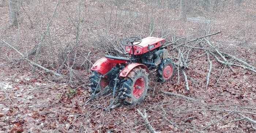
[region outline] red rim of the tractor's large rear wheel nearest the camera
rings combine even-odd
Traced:
[[[133,85],[133,96],[140,98],[145,90],[145,81],[143,78],[138,78]]]

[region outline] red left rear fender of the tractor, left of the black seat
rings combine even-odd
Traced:
[[[97,62],[93,64],[91,67],[92,71],[98,71],[98,73],[104,75],[108,73],[114,66],[116,66],[116,63],[111,63],[107,58],[101,58],[98,59]]]

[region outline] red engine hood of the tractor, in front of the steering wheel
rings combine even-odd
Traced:
[[[139,42],[135,42],[133,44],[136,44],[136,43],[139,43]],[[163,38],[157,38],[154,36],[149,36],[149,37],[143,38],[142,42],[140,44],[133,46],[134,55],[142,55],[142,54],[148,52],[148,45],[151,47],[154,45],[153,48],[150,48],[150,51],[152,51],[155,48],[163,46],[164,43],[165,43],[165,39],[163,39]],[[132,54],[132,47],[126,46],[125,51],[128,52],[129,54]]]

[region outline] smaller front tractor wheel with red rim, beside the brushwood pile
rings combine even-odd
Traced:
[[[158,64],[158,82],[164,83],[170,81],[174,75],[174,71],[175,67],[173,61],[170,58],[163,59],[161,63]]]

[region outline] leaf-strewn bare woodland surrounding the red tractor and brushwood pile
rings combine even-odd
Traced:
[[[160,84],[153,73],[139,106],[104,112],[83,103],[92,64],[124,56],[120,41],[129,36],[189,40],[221,31],[208,40],[256,67],[255,14],[255,0],[0,0],[0,133],[148,132],[136,109],[159,132],[253,133],[256,74],[212,61],[206,89],[207,56],[188,64],[189,93],[177,74]],[[204,53],[192,51],[189,59]]]

